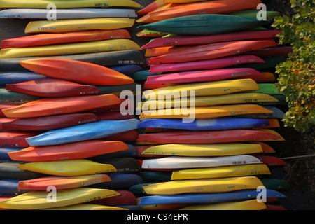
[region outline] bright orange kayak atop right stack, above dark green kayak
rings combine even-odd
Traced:
[[[178,18],[187,15],[200,15],[200,14],[228,14],[234,13],[239,10],[256,8],[261,3],[260,0],[247,1],[247,0],[217,0],[217,1],[204,1],[196,3],[185,3],[169,6],[165,10],[155,10],[149,13],[152,20],[167,20],[171,18]]]

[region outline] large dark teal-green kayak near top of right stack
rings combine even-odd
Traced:
[[[268,25],[271,20],[257,20],[237,15],[186,15],[141,25],[139,29],[180,35],[223,34]]]

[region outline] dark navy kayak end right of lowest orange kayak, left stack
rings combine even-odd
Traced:
[[[91,188],[101,188],[101,189],[123,189],[130,188],[131,186],[143,183],[144,180],[141,176],[132,173],[113,173],[108,174],[111,181],[104,183],[96,183],[91,185]]]

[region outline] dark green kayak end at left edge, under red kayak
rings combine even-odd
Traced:
[[[13,92],[6,90],[5,88],[0,88],[0,103],[1,104],[25,104],[27,102],[32,102],[34,100],[41,99],[42,97],[33,96],[30,94],[24,94],[20,92]],[[3,113],[3,112],[1,112]]]

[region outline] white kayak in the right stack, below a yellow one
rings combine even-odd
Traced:
[[[186,169],[201,167],[222,167],[230,165],[250,165],[262,163],[252,155],[231,155],[220,157],[181,157],[147,159],[142,162],[142,169]]]

